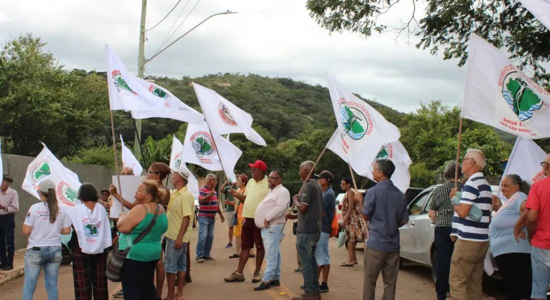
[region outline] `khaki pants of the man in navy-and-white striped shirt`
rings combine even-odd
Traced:
[[[453,300],[481,300],[483,260],[489,242],[457,239],[450,260],[449,286]]]

